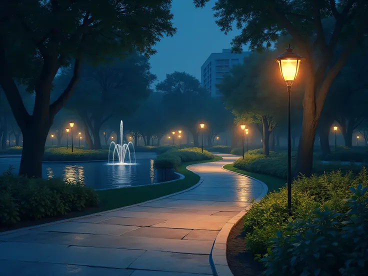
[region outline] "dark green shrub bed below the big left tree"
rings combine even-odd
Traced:
[[[95,191],[80,182],[0,176],[0,224],[64,215],[96,205]]]

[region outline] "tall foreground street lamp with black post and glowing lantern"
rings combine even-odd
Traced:
[[[287,85],[287,208],[291,215],[291,126],[290,126],[290,97],[291,85],[299,70],[300,62],[303,60],[300,55],[292,51],[290,45],[285,52],[275,58],[280,68],[282,79]]]

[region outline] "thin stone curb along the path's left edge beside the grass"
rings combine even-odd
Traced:
[[[221,160],[218,160],[218,161],[222,161],[222,159]],[[218,162],[218,161],[214,161],[214,162]],[[196,165],[196,164],[188,165],[188,166],[186,166],[186,168],[188,168],[190,166],[193,166],[193,165]],[[195,173],[192,170],[190,170],[190,171],[193,172],[193,173]],[[38,224],[38,225],[23,227],[23,228],[19,228],[19,229],[9,230],[9,231],[5,231],[5,232],[0,232],[0,236],[1,235],[5,235],[5,234],[16,233],[16,232],[19,232],[19,231],[22,231],[22,230],[29,230],[29,229],[34,229],[34,228],[38,228],[38,227],[43,227],[43,226],[53,225],[53,224],[57,224],[57,223],[67,222],[67,221],[70,221],[70,220],[75,220],[75,219],[80,219],[80,218],[86,218],[86,217],[95,216],[95,215],[99,215],[99,214],[103,214],[103,213],[118,211],[118,210],[130,208],[130,207],[138,206],[138,205],[141,205],[141,204],[153,202],[153,201],[156,201],[156,200],[167,198],[167,197],[170,197],[170,196],[173,196],[173,195],[176,195],[176,194],[179,194],[179,193],[182,193],[182,192],[191,190],[193,188],[196,188],[202,182],[203,182],[203,177],[200,176],[200,179],[199,179],[198,183],[196,183],[195,185],[193,185],[193,186],[191,186],[191,187],[189,187],[187,189],[184,189],[184,190],[181,190],[181,191],[178,191],[178,192],[174,192],[174,193],[171,193],[171,194],[163,195],[163,196],[158,197],[158,198],[154,198],[154,199],[151,199],[151,200],[147,200],[147,201],[144,201],[144,202],[139,202],[139,203],[136,203],[136,204],[132,204],[132,205],[129,205],[129,206],[124,206],[124,207],[120,207],[120,208],[116,208],[116,209],[112,209],[112,210],[107,210],[107,211],[102,211],[102,212],[97,212],[97,213],[91,213],[91,214],[87,214],[87,215],[83,215],[83,216],[71,217],[71,218],[66,218],[66,219],[63,219],[63,220],[57,220],[57,221],[52,221],[52,222],[48,222],[48,223],[44,223],[44,224]]]

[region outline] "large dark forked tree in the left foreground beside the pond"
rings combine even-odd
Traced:
[[[81,63],[123,57],[136,49],[153,54],[160,38],[173,35],[171,0],[13,1],[0,4],[0,85],[23,133],[19,174],[41,177],[44,144],[55,114],[67,102]],[[73,63],[73,75],[50,101],[52,81]],[[15,81],[34,91],[28,113]]]

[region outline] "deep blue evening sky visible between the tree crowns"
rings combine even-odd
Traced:
[[[185,71],[200,80],[200,66],[209,54],[231,47],[232,38],[240,30],[234,29],[227,35],[220,31],[214,22],[214,3],[215,0],[211,0],[204,8],[195,8],[192,0],[172,1],[176,34],[163,37],[155,46],[157,53],[150,58],[151,72],[158,81],[174,71]]]

